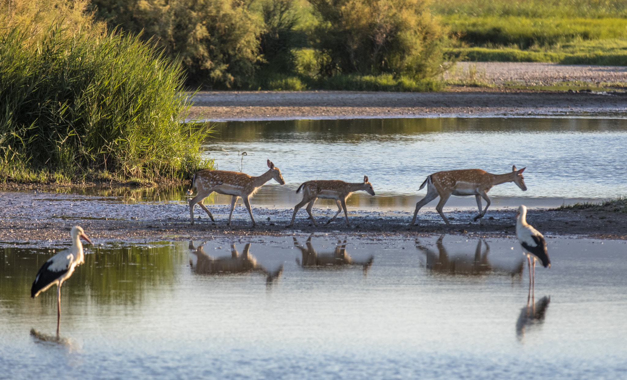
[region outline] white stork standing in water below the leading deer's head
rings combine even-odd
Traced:
[[[529,284],[535,283],[535,261],[540,261],[542,267],[551,268],[551,260],[547,253],[547,242],[544,236],[527,223],[527,207],[520,205],[518,208],[518,216],[516,219],[516,235],[522,246],[522,254],[527,256],[529,264]],[[531,265],[531,258],[534,259],[534,265]],[[533,278],[533,280],[532,280]]]

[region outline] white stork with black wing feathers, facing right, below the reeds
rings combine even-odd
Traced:
[[[70,230],[72,246],[67,250],[60,251],[52,256],[41,266],[37,277],[31,287],[31,298],[37,297],[39,293],[45,292],[56,283],[56,334],[59,334],[59,322],[61,320],[61,284],[70,278],[74,269],[85,262],[83,256],[83,245],[79,238],[85,239],[92,244],[85,231],[79,226],[73,226]]]

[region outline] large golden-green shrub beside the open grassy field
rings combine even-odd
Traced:
[[[441,70],[445,31],[426,0],[310,0],[322,23],[313,45],[327,77],[336,73],[403,73],[433,77]]]

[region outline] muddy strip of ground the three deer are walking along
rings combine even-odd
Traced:
[[[473,222],[476,211],[445,209],[451,218],[446,228],[435,211],[421,211],[418,226],[409,226],[413,213],[406,211],[349,212],[352,226],[344,219],[323,226],[334,214],[330,209],[314,209],[320,226],[307,214],[299,213],[295,226],[288,228],[292,209],[253,208],[258,226],[253,228],[246,209],[238,205],[231,226],[226,226],[229,206],[211,206],[212,223],[199,208],[194,226],[189,224],[189,206],[181,201],[131,202],[112,196],[80,196],[42,191],[0,192],[0,245],[55,246],[69,242],[71,226],[80,225],[96,243],[148,242],[159,240],[203,240],[228,237],[242,240],[250,236],[292,236],[312,233],[345,237],[414,238],[435,234],[485,237],[515,237],[514,209],[489,209],[484,225]],[[269,218],[269,220],[268,220]],[[573,236],[627,240],[627,213],[607,211],[556,211],[532,209],[527,217],[545,236]]]

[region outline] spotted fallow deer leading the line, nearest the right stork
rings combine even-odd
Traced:
[[[481,169],[466,169],[466,170],[451,170],[436,172],[428,176],[423,184],[420,185],[419,190],[422,190],[424,185],[427,185],[427,194],[416,203],[416,211],[414,211],[414,218],[411,220],[411,224],[416,223],[416,216],[418,211],[427,203],[433,201],[433,199],[440,197],[440,202],[436,206],[436,210],[440,213],[442,219],[444,219],[447,226],[451,226],[446,216],[442,212],[442,208],[448,201],[451,195],[465,196],[474,195],[477,199],[477,206],[479,208],[479,214],[475,216],[475,221],[481,219],[480,224],[483,224],[483,215],[488,211],[490,207],[490,198],[488,198],[488,191],[495,185],[500,185],[505,182],[514,182],[522,191],[527,191],[525,186],[524,177],[522,172],[525,171],[525,167],[520,170],[516,170],[515,166],[512,166],[512,171],[505,174],[492,174]],[[485,199],[485,209],[481,208],[481,198]]]

